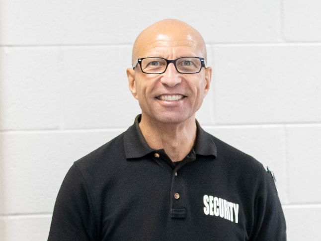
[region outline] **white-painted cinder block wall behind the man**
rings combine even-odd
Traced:
[[[319,0],[0,0],[0,241],[46,240],[69,167],[133,123],[131,47],[164,18],[207,43],[200,123],[274,170],[289,241],[320,240]]]

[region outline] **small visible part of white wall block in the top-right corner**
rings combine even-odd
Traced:
[[[321,41],[319,0],[283,0],[284,36],[288,41]]]

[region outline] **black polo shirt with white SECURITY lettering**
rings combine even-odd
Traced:
[[[57,196],[48,241],[285,241],[262,164],[206,133],[177,165],[150,148],[140,115],[75,161]]]

